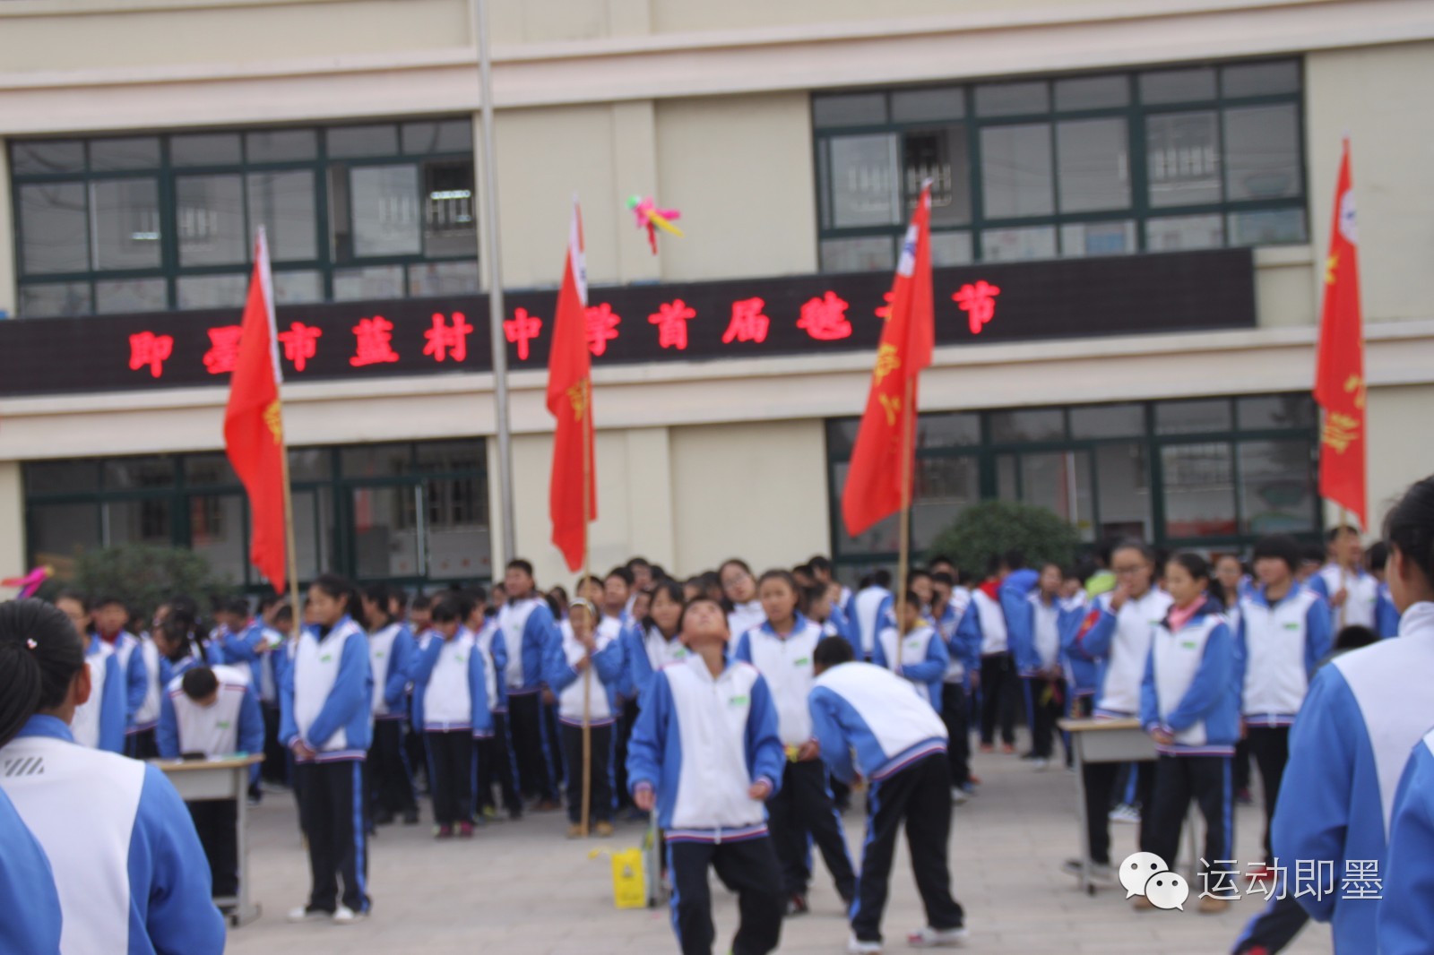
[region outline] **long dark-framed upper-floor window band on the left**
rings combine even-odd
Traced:
[[[466,119],[11,141],[22,315],[478,291]],[[1253,228],[1253,227],[1252,227]]]

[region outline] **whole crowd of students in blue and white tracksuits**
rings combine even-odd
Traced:
[[[235,807],[184,812],[153,766],[125,756],[264,753],[264,777],[293,789],[310,857],[294,921],[363,919],[369,839],[419,823],[426,790],[440,840],[499,812],[566,807],[572,837],[611,836],[624,810],[655,813],[684,952],[713,945],[708,868],[740,896],[733,951],[774,949],[783,916],[809,911],[810,846],[843,899],[849,951],[882,951],[905,826],[928,919],[909,941],[954,945],[965,913],[946,843],[952,806],[979,786],[969,740],[1015,754],[1024,710],[1034,770],[1051,764],[1060,716],[1134,718],[1156,743],[1154,763],[1084,767],[1097,882],[1114,880],[1113,819],[1139,822],[1141,850],[1174,865],[1192,802],[1202,866],[1232,859],[1232,804],[1253,763],[1266,817],[1255,878],[1285,879],[1281,859],[1388,859],[1405,903],[1336,903],[1338,885],[1286,892],[1235,951],[1279,951],[1306,916],[1335,922],[1336,951],[1377,931],[1385,951],[1424,951],[1428,896],[1408,889],[1427,883],[1424,868],[1388,833],[1434,847],[1434,734],[1420,743],[1434,726],[1434,478],[1391,512],[1385,538],[1365,552],[1336,528],[1318,562],[1265,538],[1248,569],[1140,541],[1084,568],[1028,568],[1012,551],[979,578],[938,556],[899,588],[876,571],[855,591],[825,558],[760,576],[733,559],[685,581],[634,559],[571,598],[539,591],[521,559],[490,592],[409,597],[323,575],[297,637],[281,599],[257,612],[222,601],[209,629],[182,597],[148,625],[109,595],[0,605],[0,890],[33,896],[36,912],[0,941],[34,932],[17,951],[50,951],[34,939],[53,922],[66,951],[113,932],[135,952],[222,951],[209,899],[237,888]],[[1345,654],[1367,644],[1378,645]],[[839,819],[858,776],[859,865]],[[82,780],[116,797],[83,809]],[[52,893],[26,875],[40,869]],[[1222,890],[1199,902],[1228,905]]]

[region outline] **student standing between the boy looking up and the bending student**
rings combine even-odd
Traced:
[[[782,784],[767,800],[767,825],[782,863],[787,913],[803,915],[809,911],[809,846],[813,842],[822,850],[837,895],[850,908],[856,896],[856,875],[807,710],[807,695],[816,680],[813,654],[823,640],[822,628],[797,612],[797,582],[787,571],[763,574],[757,581],[757,595],[767,611],[767,621],[737,638],[733,658],[750,662],[767,681],[777,707],[777,733],[787,753]]]

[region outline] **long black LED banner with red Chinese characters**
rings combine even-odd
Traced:
[[[594,364],[870,350],[888,272],[592,287]],[[1250,328],[1249,250],[935,270],[936,344]],[[542,369],[556,291],[506,297],[511,369]],[[287,381],[492,367],[488,297],[280,305]],[[0,394],[222,384],[239,310],[0,321]]]

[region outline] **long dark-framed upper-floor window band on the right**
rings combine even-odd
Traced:
[[[1308,241],[1298,60],[812,98],[823,271]]]

